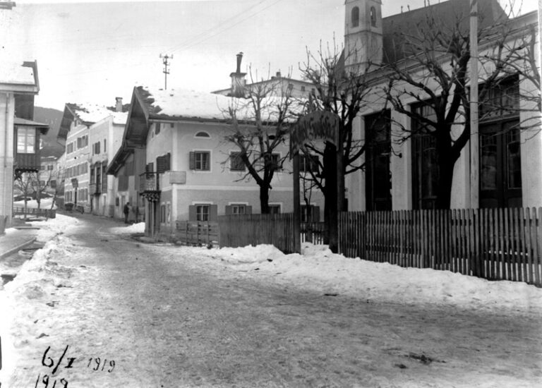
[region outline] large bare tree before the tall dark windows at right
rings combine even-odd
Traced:
[[[443,20],[432,11],[412,31],[401,31],[403,57],[383,65],[390,81],[384,88],[394,109],[413,119],[416,125],[402,127],[401,140],[412,135],[429,135],[433,138],[438,164],[437,200],[435,207],[450,207],[454,165],[471,135],[469,97],[469,47],[468,13]],[[450,19],[453,19],[450,21]],[[495,25],[496,23],[496,25]],[[517,37],[510,28],[510,20],[502,13],[498,20],[480,23],[478,45],[482,50],[495,47],[483,57],[483,71],[478,83],[481,105],[495,103],[491,91],[510,74],[534,74],[536,66],[530,61],[533,40],[529,44],[509,44]],[[493,66],[489,66],[493,64]],[[520,67],[520,63],[527,66]],[[539,96],[538,96],[539,98]],[[411,101],[416,104],[411,109]],[[510,102],[500,100],[500,109],[518,109]],[[483,110],[483,107],[481,106]],[[461,128],[454,134],[453,128]]]

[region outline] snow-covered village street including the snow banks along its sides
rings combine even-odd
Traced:
[[[0,291],[2,387],[542,381],[534,286],[311,245],[283,255],[145,244],[130,237],[141,225],[90,214],[37,224],[46,245]]]

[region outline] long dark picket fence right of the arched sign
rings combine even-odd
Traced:
[[[542,208],[339,214],[339,251],[402,267],[542,286]]]

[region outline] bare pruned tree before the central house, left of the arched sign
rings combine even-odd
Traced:
[[[291,89],[282,82],[251,83],[245,98],[232,99],[226,113],[229,119],[227,143],[234,144],[238,152],[228,155],[234,171],[242,173],[237,181],[253,179],[260,186],[260,208],[270,212],[269,195],[277,171],[282,170],[288,154],[280,154],[284,147],[296,103]]]

